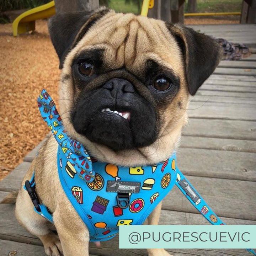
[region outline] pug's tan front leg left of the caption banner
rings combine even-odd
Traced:
[[[58,207],[53,219],[64,256],[89,256],[89,231],[74,208]]]

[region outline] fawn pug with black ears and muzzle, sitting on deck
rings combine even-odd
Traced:
[[[66,131],[103,162],[144,166],[169,158],[188,121],[190,95],[219,63],[218,43],[180,24],[108,9],[55,15],[49,32],[62,69],[59,107]],[[57,148],[51,136],[33,160],[16,217],[48,256],[89,255],[88,229],[59,181]],[[33,171],[58,236],[23,189]],[[160,211],[161,203],[146,224],[157,225]],[[148,254],[169,255],[164,249]]]

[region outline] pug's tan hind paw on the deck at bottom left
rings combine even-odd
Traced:
[[[54,233],[49,233],[47,235],[40,237],[43,242],[44,250],[47,256],[62,256],[62,246],[60,244],[59,237]]]

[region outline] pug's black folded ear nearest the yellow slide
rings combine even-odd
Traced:
[[[82,11],[57,14],[49,19],[48,28],[62,69],[68,52],[76,46],[89,28],[109,12],[103,8],[95,12]]]

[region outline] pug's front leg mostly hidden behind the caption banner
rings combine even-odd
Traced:
[[[162,202],[156,206],[156,208],[151,212],[148,219],[145,221],[145,225],[158,225],[160,213],[161,213]],[[172,256],[165,249],[147,249],[149,256]]]

